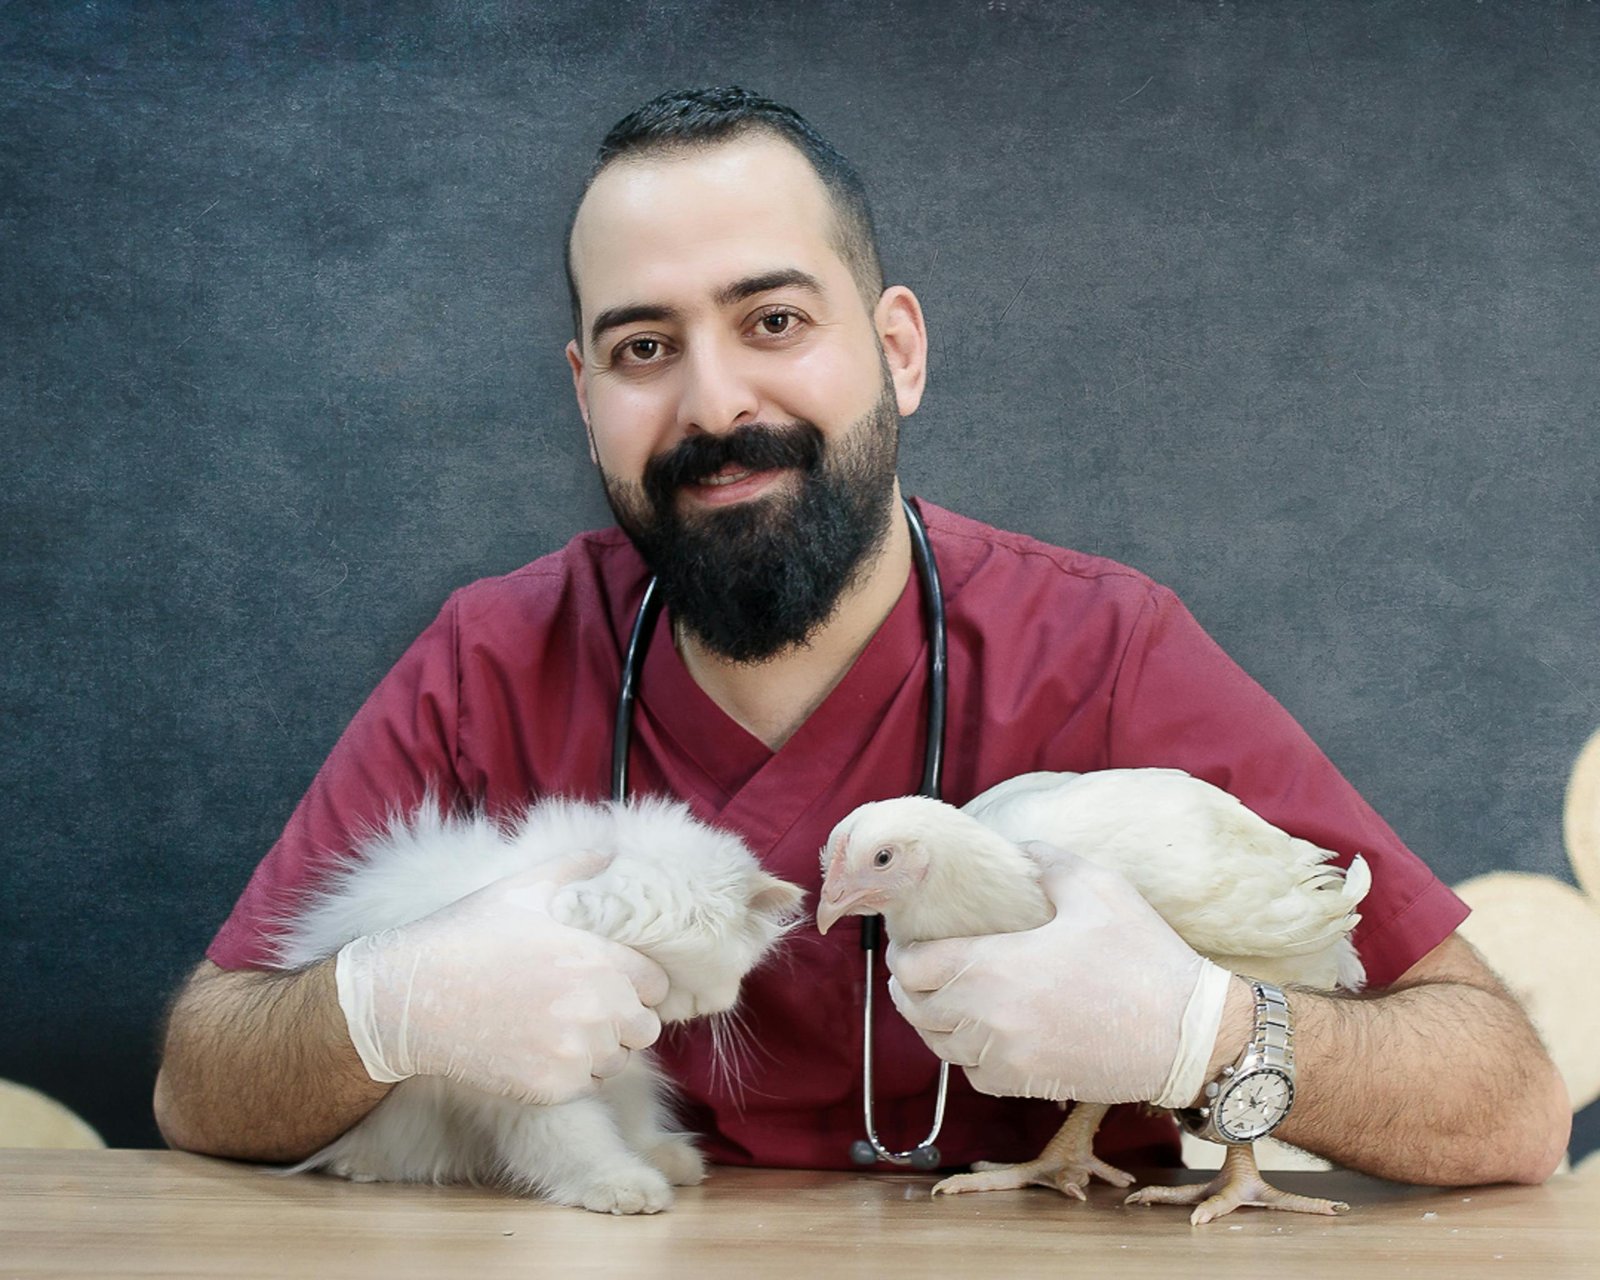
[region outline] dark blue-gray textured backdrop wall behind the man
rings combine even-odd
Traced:
[[[155,1141],[346,718],[603,518],[558,234],[680,83],[866,173],[910,491],[1176,587],[1446,880],[1571,880],[1597,72],[1586,3],[0,6],[0,1075]]]

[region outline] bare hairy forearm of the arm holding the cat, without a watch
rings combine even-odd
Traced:
[[[350,1045],[331,960],[296,973],[203,963],[173,1005],[155,1120],[174,1147],[286,1162],[338,1138],[387,1090]]]

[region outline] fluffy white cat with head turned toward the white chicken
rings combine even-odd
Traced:
[[[739,982],[795,923],[802,890],[760,869],[744,842],[667,800],[546,800],[509,830],[424,803],[365,840],[285,922],[278,963],[299,968],[539,862],[614,853],[560,890],[552,915],[635,947],[667,971],[662,1022],[730,1010]],[[706,1176],[670,1125],[666,1082],[645,1053],[597,1094],[528,1106],[442,1077],[411,1077],[293,1173],[384,1182],[491,1182],[600,1213],[658,1213],[672,1186]]]

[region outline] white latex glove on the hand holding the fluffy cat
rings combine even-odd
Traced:
[[[357,938],[334,976],[373,1080],[446,1075],[523,1102],[590,1093],[654,1043],[667,974],[637,950],[550,915],[606,866],[576,854],[496,880],[432,915]]]

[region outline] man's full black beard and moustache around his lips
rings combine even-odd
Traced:
[[[893,517],[899,413],[878,402],[829,443],[813,422],[691,435],[645,466],[643,483],[600,472],[606,502],[677,626],[733,662],[805,645],[883,547]],[[798,483],[725,510],[678,509],[680,486],[723,467],[792,469]]]

